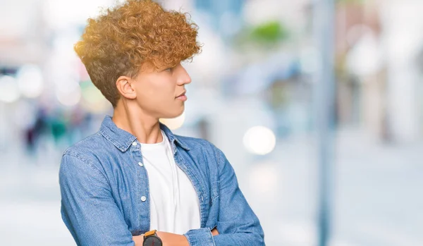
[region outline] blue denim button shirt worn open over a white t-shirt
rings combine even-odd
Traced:
[[[190,245],[264,245],[259,219],[221,150],[207,140],[173,135],[166,125],[160,128],[200,201],[201,228],[184,234]],[[61,216],[77,245],[135,245],[133,235],[154,229],[140,142],[110,116],[97,133],[66,149],[59,184]],[[219,235],[212,235],[213,228]]]

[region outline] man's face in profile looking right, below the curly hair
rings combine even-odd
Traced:
[[[134,81],[137,104],[155,118],[180,116],[187,97],[178,96],[185,94],[185,85],[190,82],[190,75],[180,63],[159,72],[141,71]]]

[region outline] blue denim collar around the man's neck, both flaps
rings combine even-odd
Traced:
[[[186,144],[183,143],[182,140],[180,140],[180,137],[174,135],[166,125],[164,125],[163,123],[159,124],[160,129],[164,131],[166,137],[168,137],[169,142],[171,142],[173,154],[176,153],[175,143],[178,143],[180,147],[187,151],[190,150],[190,148],[188,148]],[[111,143],[113,143],[116,148],[121,150],[121,152],[126,152],[130,147],[130,144],[132,144],[134,141],[137,141],[137,137],[121,128],[118,128],[116,124],[111,120],[111,116],[104,117],[99,133],[101,133],[106,138],[106,140],[109,140]]]

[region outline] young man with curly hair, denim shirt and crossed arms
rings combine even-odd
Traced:
[[[173,135],[200,51],[197,26],[151,0],[90,19],[75,51],[114,106],[61,160],[61,214],[78,245],[264,245],[231,164],[206,140]]]

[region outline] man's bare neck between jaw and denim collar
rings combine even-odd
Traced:
[[[140,143],[155,144],[163,141],[159,119],[148,116],[138,107],[130,109],[128,104],[118,104],[114,109],[112,121],[118,128],[137,137]]]

